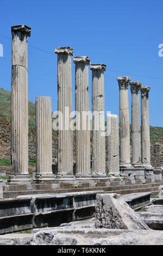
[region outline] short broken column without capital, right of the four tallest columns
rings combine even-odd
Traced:
[[[106,115],[107,132],[107,170],[108,174],[120,174],[119,157],[119,124],[118,116],[113,114]]]

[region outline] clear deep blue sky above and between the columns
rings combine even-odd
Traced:
[[[119,114],[116,77],[128,75],[131,81],[151,86],[150,124],[163,126],[163,57],[158,55],[158,46],[163,44],[162,10],[162,0],[1,1],[0,34],[11,38],[13,25],[32,28],[28,38],[29,100],[35,102],[36,96],[51,96],[52,111],[57,110],[57,54],[54,50],[70,46],[74,56],[88,56],[92,64],[107,65],[105,111]],[[11,40],[8,38],[0,36],[4,48],[4,56],[0,57],[0,87],[10,90]],[[89,80],[91,107],[91,70]],[[74,110],[73,62],[72,92]]]

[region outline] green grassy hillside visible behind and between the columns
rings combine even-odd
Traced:
[[[0,159],[10,158],[10,106],[11,93],[0,88]],[[35,142],[35,103],[29,101],[29,143]],[[163,127],[150,126],[151,144],[159,143],[163,150]],[[53,144],[57,144],[57,132],[53,131]]]

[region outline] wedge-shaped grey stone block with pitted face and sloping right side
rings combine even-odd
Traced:
[[[120,195],[97,194],[96,199],[96,228],[149,229]]]

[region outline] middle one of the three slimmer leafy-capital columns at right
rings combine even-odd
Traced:
[[[141,126],[140,126],[140,100],[139,90],[142,83],[132,81],[130,84],[131,90],[131,163],[134,167],[142,167],[141,164]]]

